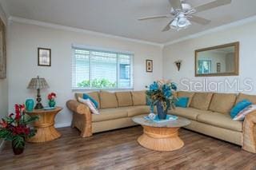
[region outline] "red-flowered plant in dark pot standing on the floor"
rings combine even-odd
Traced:
[[[11,113],[0,122],[0,138],[12,142],[15,155],[23,152],[25,139],[35,135],[36,129],[28,125],[37,120],[38,117],[25,115],[25,105],[15,105],[15,114]]]

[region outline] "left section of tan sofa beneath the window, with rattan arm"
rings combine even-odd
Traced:
[[[67,107],[73,111],[72,127],[78,128],[82,137],[91,136],[95,132],[134,126],[131,117],[150,113],[149,106],[146,105],[145,91],[100,91],[87,94],[98,102],[99,115],[91,114],[90,109],[78,100],[66,102]],[[75,93],[75,97],[82,97],[82,93]]]

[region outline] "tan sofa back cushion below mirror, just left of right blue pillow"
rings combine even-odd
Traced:
[[[217,113],[230,113],[235,100],[236,94],[234,93],[214,93],[209,109]]]

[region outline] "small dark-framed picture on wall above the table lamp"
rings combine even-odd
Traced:
[[[38,66],[50,65],[50,49],[38,48]]]

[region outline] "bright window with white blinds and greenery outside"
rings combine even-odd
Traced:
[[[130,53],[73,47],[72,89],[131,89]]]

